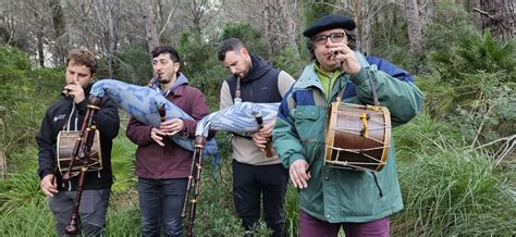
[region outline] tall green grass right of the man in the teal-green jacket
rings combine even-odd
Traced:
[[[396,130],[405,203],[393,219],[396,235],[516,234],[514,164],[494,166],[484,151],[469,150],[457,127],[422,116]]]

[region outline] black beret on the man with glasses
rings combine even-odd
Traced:
[[[314,24],[310,25],[303,35],[311,38],[320,32],[332,28],[343,28],[353,30],[356,27],[355,21],[353,18],[344,15],[324,15],[318,18]]]

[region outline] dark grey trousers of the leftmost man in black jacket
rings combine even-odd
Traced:
[[[78,219],[85,236],[102,236],[106,228],[110,189],[83,190]],[[56,217],[58,236],[65,236],[64,226],[70,223],[76,191],[59,191],[48,199]]]

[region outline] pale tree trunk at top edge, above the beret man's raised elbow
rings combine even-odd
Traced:
[[[422,54],[422,33],[417,0],[405,0],[405,13],[408,22],[410,52],[413,55],[419,58]]]

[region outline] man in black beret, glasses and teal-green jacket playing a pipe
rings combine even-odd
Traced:
[[[347,16],[325,15],[303,33],[315,61],[278,112],[273,146],[299,191],[300,236],[337,236],[341,226],[346,236],[389,236],[389,216],[403,209],[393,142],[380,172],[324,164],[328,105],[337,97],[373,104],[374,90],[393,126],[410,121],[423,101],[406,71],[356,51],[355,27]]]

